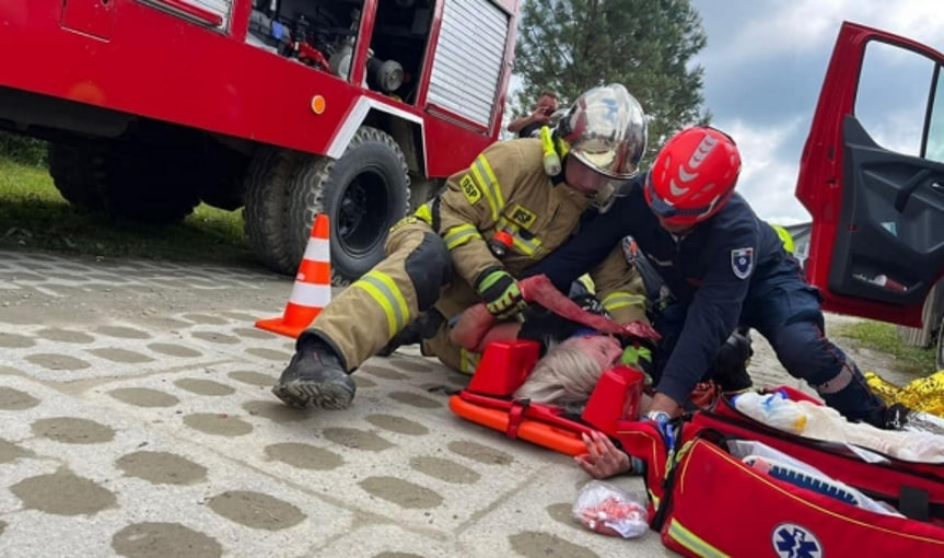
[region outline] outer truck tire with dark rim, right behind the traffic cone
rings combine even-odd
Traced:
[[[289,187],[289,245],[295,261],[315,214],[331,222],[331,283],[343,287],[384,257],[387,231],[410,202],[403,150],[386,132],[362,126],[337,159],[303,160]]]

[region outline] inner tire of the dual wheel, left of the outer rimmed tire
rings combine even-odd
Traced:
[[[284,275],[294,275],[300,261],[289,249],[285,228],[289,179],[296,162],[291,151],[264,148],[246,171],[246,242],[266,267]]]

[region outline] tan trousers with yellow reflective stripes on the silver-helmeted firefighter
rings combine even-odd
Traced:
[[[405,218],[391,230],[384,249],[386,257],[331,300],[299,336],[298,350],[319,339],[352,372],[434,305],[450,318],[479,302],[471,287],[453,272],[445,242],[426,222]],[[422,349],[448,367],[474,371],[474,357],[448,341],[447,321]]]

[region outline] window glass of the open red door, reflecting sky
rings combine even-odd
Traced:
[[[937,107],[944,92],[932,86],[940,81],[935,70],[936,63],[919,53],[869,43],[854,113],[876,143],[905,155],[944,160],[944,107]]]

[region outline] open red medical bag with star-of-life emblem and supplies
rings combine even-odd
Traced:
[[[781,386],[616,439],[645,462],[650,527],[684,556],[944,556],[944,438],[861,427]]]

